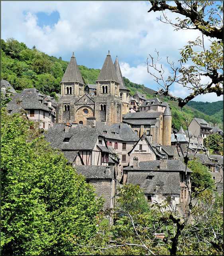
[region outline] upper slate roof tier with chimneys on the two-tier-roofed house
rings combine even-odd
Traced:
[[[124,168],[124,170],[136,170],[136,171],[141,171],[141,170],[147,170],[147,171],[159,171],[159,160],[153,160],[153,161],[145,161],[145,162],[139,162],[139,167],[138,168],[133,168],[133,166],[128,166]],[[166,170],[161,170],[161,171],[172,171],[172,172],[180,172],[183,171],[185,172],[185,164],[179,160],[179,159],[168,159],[167,160],[167,169]],[[187,167],[187,172],[192,172]]]

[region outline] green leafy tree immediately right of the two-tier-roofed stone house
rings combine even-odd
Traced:
[[[195,188],[212,188],[214,180],[212,175],[208,172],[207,167],[200,164],[196,160],[188,161],[187,166],[193,171],[191,174],[192,182],[191,187],[195,191]]]

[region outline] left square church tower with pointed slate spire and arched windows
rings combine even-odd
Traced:
[[[57,103],[57,123],[66,122],[67,119],[75,120],[74,104],[84,94],[84,82],[74,52],[60,83],[61,97]]]

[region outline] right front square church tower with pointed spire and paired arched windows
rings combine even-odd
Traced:
[[[94,97],[96,120],[106,121],[109,125],[122,122],[120,82],[110,56],[110,51],[108,51],[96,84],[97,95]]]

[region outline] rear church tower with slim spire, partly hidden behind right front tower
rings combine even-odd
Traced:
[[[116,60],[114,62],[114,68],[116,70],[116,74],[118,77],[118,81],[120,82],[120,88],[119,88],[119,97],[120,100],[122,100],[122,115],[126,115],[129,113],[129,92],[130,90],[125,87],[124,79],[120,70],[120,65],[118,62],[118,56],[116,57]]]

